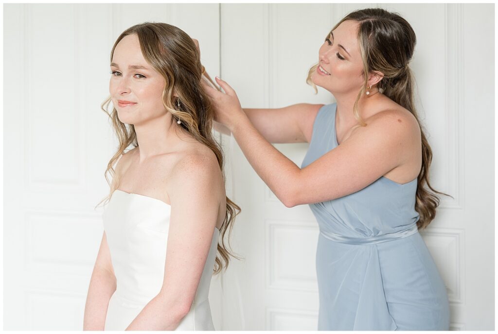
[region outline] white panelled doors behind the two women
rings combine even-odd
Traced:
[[[373,4],[5,4],[4,330],[80,330],[102,237],[103,173],[116,149],[100,103],[118,35],[179,26],[245,107],[330,103],[305,83],[325,34]],[[452,330],[494,330],[494,4],[375,4],[417,34],[418,112],[443,197],[423,232],[448,289]],[[285,208],[223,136],[242,209],[233,260],[210,292],[218,330],[315,330],[317,223]],[[276,146],[300,165],[306,144]],[[222,289],[223,288],[223,289]]]

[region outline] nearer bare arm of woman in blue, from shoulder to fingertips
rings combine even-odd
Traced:
[[[217,78],[226,94],[207,89],[217,104],[217,117],[231,129],[249,164],[287,207],[339,198],[365,188],[406,163],[420,128],[411,114],[385,111],[368,126],[309,166],[300,169],[276,150],[252,125],[235,91]],[[386,131],[386,130],[389,131]]]

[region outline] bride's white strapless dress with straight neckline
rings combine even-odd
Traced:
[[[106,331],[124,331],[160,291],[164,278],[171,207],[116,190],[103,213],[117,287],[107,310]],[[215,228],[201,281],[189,313],[176,330],[214,331],[208,301],[220,231]]]

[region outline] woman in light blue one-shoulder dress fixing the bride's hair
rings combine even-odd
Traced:
[[[380,8],[343,18],[307,82],[329,105],[242,109],[219,78],[217,120],[287,207],[309,204],[320,227],[319,330],[448,330],[446,287],[422,240],[439,198],[413,103],[415,33]],[[301,168],[269,142],[309,142]]]

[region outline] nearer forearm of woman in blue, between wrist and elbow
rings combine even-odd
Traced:
[[[287,207],[296,205],[301,169],[268,143],[246,115],[238,117],[232,133],[259,177]]]

